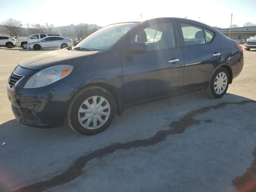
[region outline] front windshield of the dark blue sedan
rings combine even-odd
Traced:
[[[107,50],[135,25],[136,23],[120,23],[106,26],[86,37],[76,47]]]

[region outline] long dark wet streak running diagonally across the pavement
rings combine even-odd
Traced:
[[[244,100],[241,102],[222,102],[213,106],[206,106],[203,108],[199,108],[197,110],[192,110],[187,114],[185,114],[178,121],[171,122],[169,124],[170,129],[168,130],[160,130],[156,132],[154,136],[148,139],[134,140],[126,143],[117,142],[109,146],[106,146],[104,148],[95,150],[94,152],[91,152],[89,154],[85,154],[84,156],[80,156],[77,160],[74,161],[74,163],[65,172],[58,174],[56,176],[53,176],[48,180],[36,182],[34,184],[25,186],[23,188],[15,190],[14,192],[43,192],[50,188],[61,186],[63,184],[66,184],[78,178],[79,176],[82,176],[84,174],[83,168],[86,166],[86,163],[89,162],[90,160],[93,160],[95,158],[101,158],[102,156],[105,156],[107,154],[112,154],[117,150],[128,150],[130,148],[153,146],[166,140],[166,137],[170,134],[182,134],[188,127],[200,124],[201,120],[197,120],[194,117],[198,114],[203,114],[208,112],[209,108],[218,109],[218,108],[223,108],[230,104],[244,105],[246,103],[252,103],[252,102],[255,102],[255,101]],[[254,166],[254,169],[251,170],[251,172],[256,173],[255,166]],[[244,191],[241,191],[241,192],[244,192]]]

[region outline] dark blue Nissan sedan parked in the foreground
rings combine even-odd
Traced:
[[[243,68],[243,49],[214,28],[156,18],[106,26],[78,45],[21,62],[8,79],[22,124],[105,130],[126,106],[190,90],[221,98]]]

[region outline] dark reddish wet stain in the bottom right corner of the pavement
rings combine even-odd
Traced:
[[[254,160],[242,176],[236,177],[232,184],[237,192],[256,192],[256,148],[253,152]]]

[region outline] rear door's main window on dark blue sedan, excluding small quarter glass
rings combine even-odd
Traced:
[[[205,44],[204,31],[202,27],[181,23],[182,34],[184,38],[184,44],[186,45],[198,45]]]

